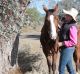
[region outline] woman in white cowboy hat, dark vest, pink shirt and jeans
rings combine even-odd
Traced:
[[[61,36],[58,43],[61,48],[59,74],[65,74],[65,67],[67,67],[69,74],[75,74],[72,58],[77,44],[76,17],[78,11],[75,8],[69,11],[63,9],[63,13],[65,20],[60,30]]]

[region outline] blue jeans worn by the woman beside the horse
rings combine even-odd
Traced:
[[[59,74],[65,74],[66,67],[69,74],[75,74],[75,70],[72,64],[74,50],[75,50],[75,47],[61,49]]]

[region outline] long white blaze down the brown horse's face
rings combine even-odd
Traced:
[[[53,15],[50,15],[50,37],[51,37],[51,39],[54,39],[54,40],[57,38],[56,26],[54,23]]]

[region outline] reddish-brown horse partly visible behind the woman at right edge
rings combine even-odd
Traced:
[[[76,45],[76,49],[73,55],[74,63],[76,66],[76,74],[78,74],[79,68],[80,68],[80,27],[78,27],[78,33],[77,33],[78,43]]]

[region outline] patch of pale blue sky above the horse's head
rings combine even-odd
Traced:
[[[35,7],[41,14],[44,14],[43,5],[52,8],[58,1],[60,0],[32,0],[29,7]]]

